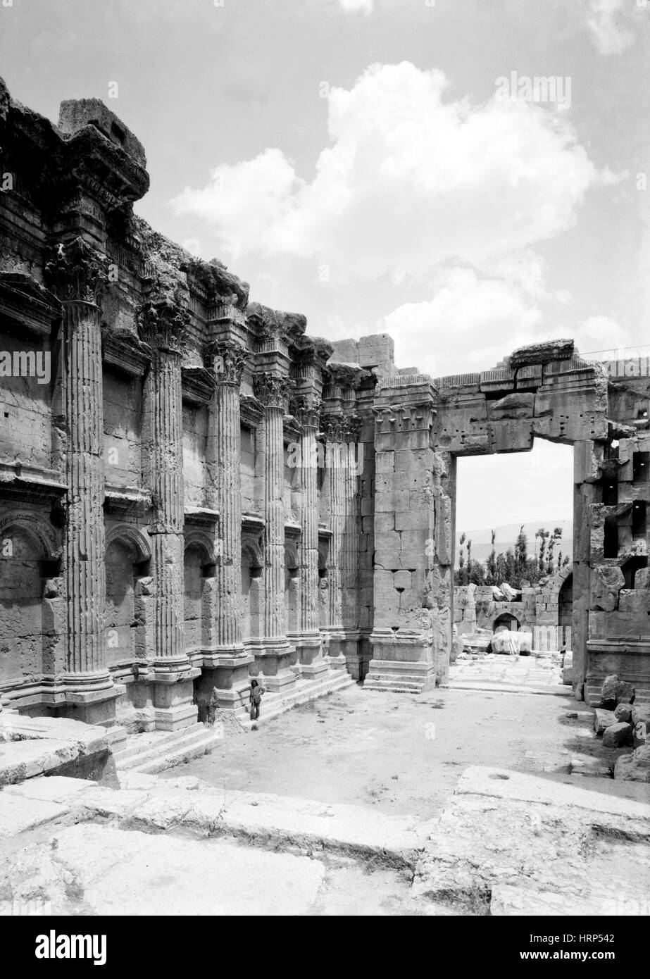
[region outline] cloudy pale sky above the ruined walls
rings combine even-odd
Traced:
[[[103,99],[135,210],[253,299],[435,377],[650,341],[649,28],[650,0],[0,0],[0,74],[55,121]]]

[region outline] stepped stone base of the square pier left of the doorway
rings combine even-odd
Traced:
[[[436,686],[436,664],[430,640],[410,629],[374,629],[370,635],[373,658],[363,687],[422,693]]]

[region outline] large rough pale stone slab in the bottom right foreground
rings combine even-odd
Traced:
[[[600,781],[613,782],[591,779],[587,789],[505,769],[463,772],[418,862],[414,893],[475,914],[491,913],[502,886],[559,895],[565,909],[596,903],[599,913],[621,894],[646,900],[650,805],[600,793]],[[498,894],[496,913],[569,913],[562,902],[538,901],[535,912],[518,893]]]

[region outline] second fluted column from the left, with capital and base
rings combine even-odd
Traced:
[[[148,303],[140,337],[152,350],[145,381],[146,476],[152,490],[153,708],[156,727],[194,723],[193,669],[184,648],[182,349],[189,316],[174,303]]]

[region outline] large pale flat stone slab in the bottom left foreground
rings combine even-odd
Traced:
[[[302,915],[324,874],[322,862],[226,840],[81,824],[10,858],[0,889],[53,914]]]

